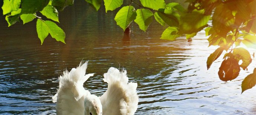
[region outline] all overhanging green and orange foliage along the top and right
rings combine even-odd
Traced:
[[[55,23],[59,22],[58,12],[73,5],[74,0],[3,0],[3,15],[8,26],[19,19],[23,24],[37,18],[36,30],[41,43],[50,34],[57,41],[65,43],[65,33]],[[96,11],[102,6],[102,0],[85,0]],[[121,7],[123,0],[103,0],[105,10],[113,11]],[[239,75],[240,68],[247,70],[252,62],[250,53],[239,47],[256,48],[256,0],[186,0],[184,8],[178,3],[165,3],[164,0],[130,0],[116,13],[115,21],[124,31],[133,21],[144,32],[155,19],[166,29],[161,39],[175,40],[186,35],[187,39],[205,30],[209,46],[219,46],[207,59],[207,69],[223,52],[223,62],[219,68],[219,78],[231,81]],[[134,6],[140,8],[135,9]],[[41,13],[49,20],[37,16]],[[52,20],[52,21],[50,21]],[[212,22],[209,24],[209,22]],[[239,65],[239,61],[242,64]],[[256,84],[255,70],[242,82],[242,92]]]

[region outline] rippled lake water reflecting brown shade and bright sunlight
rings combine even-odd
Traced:
[[[208,47],[203,32],[192,42],[184,37],[172,42],[159,39],[165,27],[157,22],[145,33],[132,23],[129,39],[116,26],[116,12],[94,12],[85,1],[75,4],[60,13],[66,44],[47,37],[40,45],[36,20],[7,27],[0,16],[0,114],[55,115],[58,77],[82,59],[89,60],[87,73],[96,73],[84,86],[97,96],[106,91],[102,79],[109,67],[127,70],[129,80],[138,83],[136,115],[256,114],[255,88],[241,95],[240,85],[256,67],[255,59],[237,79],[223,82],[217,75],[221,58],[206,68],[217,47]]]

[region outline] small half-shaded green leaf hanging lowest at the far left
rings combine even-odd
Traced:
[[[19,20],[20,12],[21,12],[21,9],[18,9],[17,11],[13,11],[10,15],[7,15],[5,17],[5,20],[8,23],[8,27],[12,26],[16,22],[20,22]]]

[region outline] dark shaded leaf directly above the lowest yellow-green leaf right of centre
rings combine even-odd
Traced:
[[[179,21],[178,21],[178,17],[176,15],[173,14],[165,14],[163,12],[155,12],[157,13],[157,15],[165,22],[167,23],[169,26],[171,27],[178,27],[179,25]],[[161,23],[160,23],[161,24]]]

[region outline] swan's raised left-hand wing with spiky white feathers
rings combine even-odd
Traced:
[[[53,96],[53,102],[57,102],[56,111],[59,115],[84,114],[84,98],[90,92],[83,88],[83,83],[93,74],[86,73],[87,62],[80,63],[77,68],[63,72],[59,77],[59,90]]]

